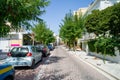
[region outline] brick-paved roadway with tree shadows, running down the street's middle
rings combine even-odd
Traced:
[[[109,80],[61,47],[51,52],[35,80]]]

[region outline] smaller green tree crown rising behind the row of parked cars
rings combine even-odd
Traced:
[[[45,22],[39,22],[39,24],[35,25],[32,31],[35,33],[36,41],[40,43],[48,44],[55,41],[53,32],[46,27]]]

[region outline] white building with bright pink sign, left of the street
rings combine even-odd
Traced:
[[[9,49],[15,46],[23,46],[24,36],[29,37],[29,33],[25,31],[10,32],[8,36],[0,38],[0,52],[8,52]],[[29,37],[30,38],[30,37]],[[29,39],[30,43],[30,39]]]

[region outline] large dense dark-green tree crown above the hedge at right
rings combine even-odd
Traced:
[[[105,34],[109,31],[112,36],[120,36],[120,3],[108,7],[102,11],[94,10],[85,20],[88,32]]]

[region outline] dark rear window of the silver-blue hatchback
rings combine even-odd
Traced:
[[[15,47],[11,50],[10,53],[12,57],[25,57],[28,52],[29,52],[28,48]]]

